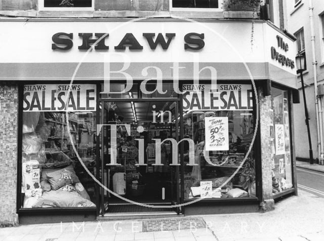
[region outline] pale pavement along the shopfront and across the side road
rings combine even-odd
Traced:
[[[309,167],[310,166],[310,167]],[[319,166],[319,167],[318,167]],[[324,166],[297,162],[297,167],[324,172]],[[179,217],[179,220],[189,218]],[[299,188],[298,196],[290,196],[266,213],[218,214],[192,216],[205,221],[205,228],[195,223],[186,229],[147,231],[143,220],[94,221],[21,225],[0,229],[0,241],[323,241],[324,198]],[[168,222],[166,219],[165,222]],[[198,226],[197,226],[198,227]]]

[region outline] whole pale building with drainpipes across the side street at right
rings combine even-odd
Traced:
[[[322,84],[324,80],[324,6],[320,1],[289,1],[287,4],[287,29],[297,38],[297,52],[306,57],[303,71],[307,108],[310,116],[310,132],[315,162],[323,165],[323,117]],[[301,91],[300,75],[298,88]],[[302,103],[301,99],[301,103]],[[304,105],[295,105],[296,139],[303,140],[307,134]],[[309,147],[303,141],[296,142],[296,157],[308,162]]]

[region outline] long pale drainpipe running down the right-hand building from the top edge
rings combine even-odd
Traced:
[[[312,48],[312,65],[314,75],[314,92],[315,92],[315,111],[316,111],[316,127],[317,127],[317,145],[318,145],[318,160],[320,163],[324,160],[323,148],[323,123],[322,123],[322,105],[319,104],[320,98],[317,96],[317,70],[316,70],[316,56],[315,56],[315,31],[314,31],[314,17],[313,17],[313,2],[309,0],[309,23],[310,23],[310,43]],[[319,154],[320,151],[320,154]]]

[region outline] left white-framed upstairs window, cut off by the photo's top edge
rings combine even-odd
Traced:
[[[39,10],[93,10],[94,0],[38,0]]]

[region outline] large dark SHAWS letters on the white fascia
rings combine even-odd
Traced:
[[[106,45],[105,40],[109,37],[109,33],[79,33],[82,37],[82,43],[77,47],[79,50],[88,50],[92,44],[96,43],[95,50],[109,50],[109,46]],[[94,36],[93,36],[94,35]],[[155,33],[143,33],[143,37],[146,38],[150,49],[155,50],[157,45],[160,45],[162,49],[167,50],[172,42],[172,39],[176,37],[175,33],[166,33],[165,36],[162,33],[158,33],[155,37]],[[153,40],[155,38],[155,40]],[[200,50],[205,46],[204,33],[190,32],[184,35],[184,49]],[[52,50],[69,50],[73,47],[73,33],[58,32],[52,36]],[[116,45],[117,44],[117,45]],[[142,50],[143,46],[138,42],[133,33],[126,33],[119,43],[114,43],[115,50],[125,50],[128,47],[130,50]]]

